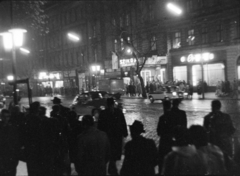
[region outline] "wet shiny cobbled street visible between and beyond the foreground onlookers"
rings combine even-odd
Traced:
[[[73,97],[60,97],[64,106],[69,106],[72,103]],[[33,98],[33,101],[39,101],[48,110],[48,115],[51,110],[52,97],[37,97]],[[127,125],[131,125],[134,120],[140,120],[143,122],[146,133],[145,137],[151,138],[158,145],[159,137],[156,133],[156,127],[159,120],[159,116],[163,113],[163,107],[161,101],[155,101],[153,104],[147,99],[140,98],[124,98],[120,100],[123,107],[126,109],[125,118]],[[234,126],[237,128],[235,134],[236,137],[240,136],[240,120],[239,120],[239,100],[224,99],[222,102],[222,111],[230,114],[232,117]],[[28,100],[23,98],[21,100],[22,106],[28,105]],[[180,104],[180,109],[185,110],[188,118],[188,127],[193,124],[203,123],[203,117],[211,111],[211,100],[183,100]],[[128,141],[130,137],[126,139]],[[121,167],[121,162],[118,164]],[[24,163],[19,164],[18,174],[25,174],[26,168]]]

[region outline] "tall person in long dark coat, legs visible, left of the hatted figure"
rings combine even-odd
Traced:
[[[107,99],[107,108],[100,113],[98,129],[107,133],[111,144],[109,174],[118,174],[116,161],[121,159],[123,137],[128,136],[127,125],[122,110],[114,107],[114,99]]]

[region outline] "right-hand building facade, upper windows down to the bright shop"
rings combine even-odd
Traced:
[[[204,80],[210,90],[219,81],[239,79],[239,1],[176,0],[180,16],[166,22],[168,75],[196,86]]]

